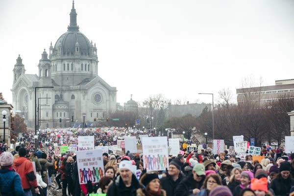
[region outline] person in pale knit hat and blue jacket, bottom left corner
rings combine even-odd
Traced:
[[[0,154],[0,195],[24,196],[20,175],[12,168],[14,157],[10,152]]]

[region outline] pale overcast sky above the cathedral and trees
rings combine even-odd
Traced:
[[[293,0],[75,0],[79,30],[96,43],[98,75],[117,101],[150,95],[211,102],[244,78],[294,78]],[[12,103],[13,68],[38,73],[44,49],[70,23],[72,0],[0,0],[0,92]],[[234,96],[233,101],[236,101]]]

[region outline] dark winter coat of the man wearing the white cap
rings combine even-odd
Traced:
[[[132,182],[130,187],[126,187],[118,175],[113,183],[108,187],[107,196],[136,196],[137,189],[142,188],[136,176],[132,174]]]

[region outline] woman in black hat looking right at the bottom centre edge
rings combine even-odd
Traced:
[[[145,173],[140,179],[140,184],[145,188],[137,190],[137,196],[166,196],[166,191],[161,189],[158,173]]]

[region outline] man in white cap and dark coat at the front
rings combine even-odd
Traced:
[[[133,172],[136,166],[131,161],[123,160],[119,165],[120,175],[108,187],[107,196],[136,196],[137,189],[141,188]]]

